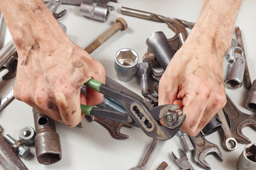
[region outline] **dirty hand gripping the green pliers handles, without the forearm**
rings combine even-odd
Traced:
[[[82,85],[93,78],[105,82],[105,69],[100,62],[60,31],[58,38],[38,38],[31,44],[18,44],[18,68],[14,96],[53,120],[73,127],[80,123],[80,101],[94,106],[102,94]]]

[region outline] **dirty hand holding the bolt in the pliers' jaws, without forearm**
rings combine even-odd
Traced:
[[[225,105],[225,89],[220,57],[189,41],[161,77],[159,105],[183,106],[186,120],[182,128],[188,135],[196,135]]]

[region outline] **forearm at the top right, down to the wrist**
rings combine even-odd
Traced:
[[[198,40],[220,60],[230,47],[233,26],[241,0],[205,0],[201,13],[189,37]],[[207,42],[207,43],[206,43]],[[206,44],[204,44],[206,43]]]

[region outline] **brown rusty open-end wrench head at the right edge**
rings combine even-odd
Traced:
[[[231,101],[228,95],[227,103],[223,108],[223,112],[228,116],[230,130],[233,137],[235,137],[235,140],[244,144],[249,144],[251,141],[249,138],[242,134],[242,128],[249,126],[250,128],[256,130],[255,116],[242,113]]]

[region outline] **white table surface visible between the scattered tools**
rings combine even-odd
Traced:
[[[99,35],[104,33],[105,30],[110,28],[115,23],[117,17],[123,17],[127,21],[129,28],[120,31],[95,52],[92,52],[92,57],[95,57],[96,60],[99,60],[104,65],[109,77],[129,87],[129,89],[132,89],[137,94],[141,94],[139,82],[136,79],[132,79],[132,81],[127,83],[117,79],[114,71],[115,53],[123,47],[132,48],[139,54],[139,61],[141,62],[142,56],[147,48],[145,43],[146,38],[159,30],[164,31],[168,38],[171,38],[174,33],[167,28],[165,23],[156,23],[122,15],[120,13],[121,6],[137,8],[142,11],[150,11],[164,16],[196,22],[202,1],[118,0],[117,4],[113,2],[109,4],[114,6],[115,9],[110,13],[110,18],[105,23],[92,21],[90,18],[80,16],[78,6],[64,5],[60,6],[58,11],[65,8],[68,14],[60,22],[67,26],[67,33],[71,40],[80,45],[80,47],[87,47],[87,45],[90,45]],[[253,0],[243,1],[238,13],[238,18],[235,22],[235,26],[240,26],[240,30],[242,31],[252,81],[256,79],[255,4],[256,2]],[[9,31],[6,26],[4,26],[3,35],[0,39],[0,47],[6,44],[10,39]],[[5,73],[6,71],[0,71],[0,76],[2,77]],[[6,95],[13,83],[14,79],[9,81],[0,79],[0,98]],[[248,91],[245,90],[244,87],[235,91],[226,91],[241,111],[252,115],[255,114],[245,108]],[[15,99],[9,106],[4,108],[4,111],[1,111],[0,124],[4,128],[4,134],[8,133],[18,138],[18,130],[27,125],[34,126],[32,108]],[[122,132],[129,135],[129,138],[127,140],[114,140],[105,128],[95,122],[89,123],[87,120],[82,120],[82,125],[83,128],[68,128],[64,124],[56,123],[63,155],[60,162],[52,165],[39,164],[36,159],[35,149],[31,147],[31,155],[26,159],[22,159],[24,164],[26,164],[28,169],[130,169],[138,164],[150,140],[139,128],[122,128]],[[244,128],[242,132],[249,137],[252,142],[256,142],[254,130]],[[207,136],[206,139],[220,147],[224,158],[224,161],[220,162],[213,155],[206,157],[206,161],[210,164],[212,169],[235,169],[235,164],[245,145],[239,143],[235,151],[227,152],[223,148],[223,138],[220,132],[215,132]],[[151,157],[148,169],[156,169],[163,161],[169,164],[167,169],[178,169],[178,166],[171,160],[171,152],[174,152],[178,156],[178,148],[181,148],[181,144],[176,136],[171,140],[160,142],[153,157]],[[201,169],[193,162],[191,153],[188,153],[188,159],[194,169]]]

